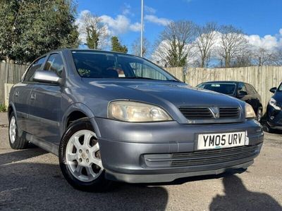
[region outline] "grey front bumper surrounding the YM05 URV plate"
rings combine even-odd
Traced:
[[[259,154],[264,137],[261,125],[255,120],[235,124],[178,124],[174,121],[128,123],[102,118],[94,120],[99,127],[98,139],[106,178],[130,183],[173,181],[181,177],[247,168]],[[195,148],[197,134],[239,131],[247,131],[249,146],[244,146],[242,150],[231,148],[231,151],[223,151],[223,157],[212,158],[214,162],[205,157],[211,151],[204,155]],[[191,165],[187,161],[191,155],[196,154],[194,152],[199,154],[198,160]],[[183,156],[180,162],[176,162],[177,165],[172,165],[173,155]],[[156,156],[166,158],[166,162],[152,162],[152,158],[154,161]]]

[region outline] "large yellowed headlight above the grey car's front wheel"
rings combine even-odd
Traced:
[[[171,117],[158,106],[133,101],[113,101],[109,103],[108,117],[124,122],[171,121]]]

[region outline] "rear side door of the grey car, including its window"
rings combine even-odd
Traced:
[[[14,91],[14,105],[16,107],[17,114],[17,123],[18,127],[25,132],[30,133],[31,128],[29,127],[29,103],[30,103],[30,94],[33,89],[32,78],[36,70],[42,68],[46,56],[39,58],[33,62],[30,67],[25,72],[25,75],[22,79],[22,82],[16,84]]]

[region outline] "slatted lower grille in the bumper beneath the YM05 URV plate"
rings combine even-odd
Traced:
[[[145,155],[147,166],[190,167],[230,162],[257,155],[259,146],[238,146],[191,153]]]

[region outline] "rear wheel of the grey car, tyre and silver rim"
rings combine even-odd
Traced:
[[[13,112],[9,119],[8,137],[11,148],[17,150],[27,148],[28,141],[18,136],[18,124]]]

